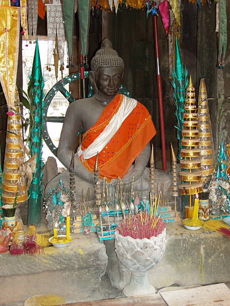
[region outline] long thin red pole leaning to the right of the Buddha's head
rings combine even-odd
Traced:
[[[164,134],[164,110],[163,110],[162,85],[161,85],[161,75],[160,75],[160,55],[159,55],[159,40],[158,40],[158,31],[157,31],[157,16],[155,15],[153,15],[153,32],[154,32],[154,45],[155,45],[155,55],[156,55],[156,77],[157,77],[159,116],[160,116],[162,167],[163,170],[166,171],[167,166],[166,166],[166,148],[165,148],[165,134]]]

